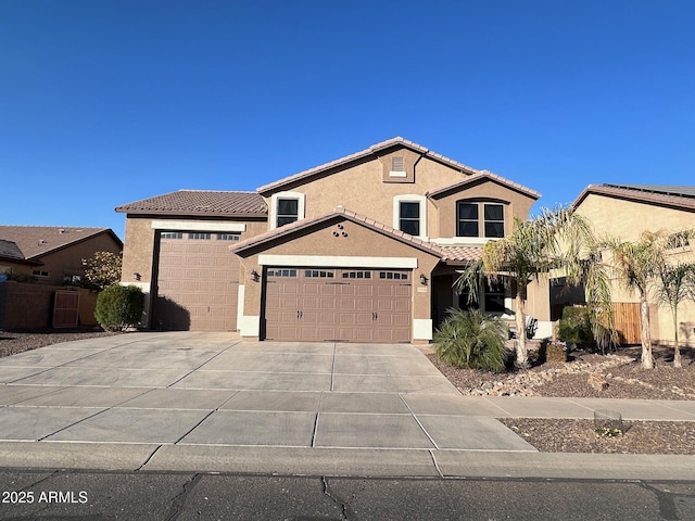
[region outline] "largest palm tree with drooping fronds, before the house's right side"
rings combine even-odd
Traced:
[[[488,242],[482,257],[462,272],[454,287],[462,292],[467,290],[469,298],[475,300],[485,278],[502,279],[510,284],[516,301],[516,366],[528,367],[526,300],[531,281],[561,269],[570,284],[586,284],[587,302],[596,304],[590,304],[592,313],[609,309],[608,284],[605,272],[597,269],[595,244],[584,217],[571,208],[543,208],[531,220],[515,219],[510,236]],[[603,307],[597,305],[599,302],[604,303]]]

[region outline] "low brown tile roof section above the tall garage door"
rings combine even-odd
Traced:
[[[268,209],[256,192],[179,190],[116,207],[122,214],[265,217]]]

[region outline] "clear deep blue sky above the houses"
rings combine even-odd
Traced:
[[[0,0],[0,224],[403,136],[543,193],[692,185],[695,2]],[[536,205],[538,206],[538,205]]]

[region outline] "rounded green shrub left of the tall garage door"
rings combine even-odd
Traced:
[[[106,331],[136,326],[144,309],[144,293],[137,285],[111,285],[99,293],[94,317]]]

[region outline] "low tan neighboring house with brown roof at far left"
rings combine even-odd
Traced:
[[[37,283],[73,282],[85,272],[84,259],[122,250],[123,242],[109,228],[0,226],[0,272]]]

